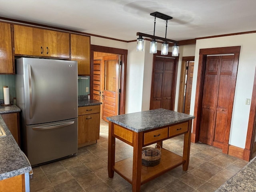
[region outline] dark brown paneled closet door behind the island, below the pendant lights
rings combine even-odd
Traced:
[[[173,109],[174,64],[174,58],[156,57],[152,72],[150,110]]]

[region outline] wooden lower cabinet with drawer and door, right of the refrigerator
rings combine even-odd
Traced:
[[[78,147],[100,138],[100,105],[78,107]]]

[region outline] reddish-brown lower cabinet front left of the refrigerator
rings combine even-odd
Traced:
[[[12,133],[12,136],[16,140],[17,144],[20,146],[19,112],[1,114],[1,116],[2,116],[5,124],[7,125],[8,129]]]

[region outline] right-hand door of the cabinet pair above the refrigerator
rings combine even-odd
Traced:
[[[69,58],[69,34],[44,30],[44,56]]]

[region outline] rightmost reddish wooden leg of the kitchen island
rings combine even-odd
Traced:
[[[190,142],[191,142],[191,129],[192,129],[192,120],[189,120],[188,132],[184,134],[183,160],[186,161],[182,165],[182,168],[184,171],[188,170],[189,155],[190,155]]]

